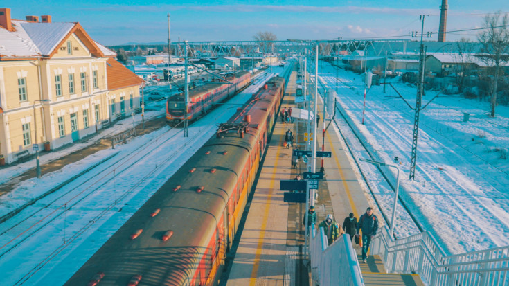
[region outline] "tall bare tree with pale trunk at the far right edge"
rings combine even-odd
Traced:
[[[483,30],[477,39],[481,43],[479,59],[493,70],[494,76],[490,80],[491,110],[490,116],[495,116],[497,106],[497,84],[499,81],[500,66],[509,60],[509,15],[501,15],[501,11],[486,15]]]

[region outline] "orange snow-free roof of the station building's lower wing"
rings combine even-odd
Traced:
[[[144,81],[138,75],[135,75],[113,57],[110,57],[106,63],[109,90],[123,89],[125,87],[143,84]]]

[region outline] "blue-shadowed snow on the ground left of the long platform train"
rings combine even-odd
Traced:
[[[283,69],[274,68],[274,72],[282,74]],[[260,75],[255,84],[232,98],[229,103],[247,101],[262,85],[262,80],[265,82],[270,77]],[[161,103],[153,106],[152,109],[159,109],[153,111],[154,116],[163,114],[163,107]],[[98,161],[107,160],[84,173],[70,186],[48,195],[0,224],[0,272],[9,274],[3,276],[3,284],[65,283],[213,136],[215,124],[228,120],[235,114],[237,107],[217,107],[190,126],[187,139],[182,138],[181,129],[163,127],[156,132],[136,137],[130,143],[118,145],[114,150],[96,152],[61,170],[46,174],[41,179],[26,180],[8,195],[0,197],[0,215],[5,215],[62,181],[84,172]],[[117,132],[117,128],[123,128],[122,125],[132,126],[132,118],[123,121],[117,123],[111,131]],[[60,156],[74,150],[78,150],[78,147],[62,149],[59,151]],[[53,155],[47,155],[50,154]],[[48,156],[45,160],[56,157]],[[24,165],[19,164],[12,167],[15,170],[7,170],[10,174],[19,174],[23,168],[32,168]]]

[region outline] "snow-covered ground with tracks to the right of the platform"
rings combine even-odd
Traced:
[[[399,163],[400,195],[425,230],[446,253],[464,253],[509,244],[509,108],[497,107],[488,117],[489,103],[461,96],[439,95],[420,113],[415,180],[409,180],[414,111],[391,87],[373,86],[366,95],[361,124],[364,82],[361,75],[337,71],[323,63],[321,80],[337,91],[340,109],[368,143],[373,159]],[[394,87],[415,107],[416,87],[393,79]],[[422,106],[436,95],[426,91]],[[463,114],[470,120],[463,122]],[[355,156],[368,158],[355,150]],[[398,157],[398,161],[394,161]],[[393,208],[393,191],[379,188],[381,176],[372,165],[368,180],[384,213]],[[395,170],[388,169],[395,178]],[[395,233],[415,233],[408,215],[398,206]]]

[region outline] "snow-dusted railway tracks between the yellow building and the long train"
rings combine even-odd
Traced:
[[[270,77],[268,74],[260,75],[256,83],[247,88],[243,100],[250,98],[249,92],[258,89]],[[236,98],[232,100],[242,100]],[[182,129],[170,127],[149,134],[154,137],[149,143],[136,143],[135,138],[129,145],[120,146],[111,161],[69,181],[57,192],[25,206],[17,215],[3,222],[0,259],[7,263],[17,260],[20,253],[30,253],[28,256],[31,256],[34,245],[37,245],[39,258],[37,261],[26,260],[24,269],[30,270],[24,275],[10,278],[12,283],[27,283],[51,260],[73,251],[86,238],[84,234],[99,229],[107,229],[111,233],[113,230],[110,229],[109,220],[115,216],[127,220],[136,211],[136,205],[141,206],[159,188],[157,184],[162,184],[166,181],[164,177],[172,175],[170,169],[173,172],[178,169],[172,165],[177,157],[181,163],[185,162],[194,154],[193,150],[199,148],[199,142],[204,143],[213,135],[215,128],[210,126],[224,122],[235,110],[233,107],[215,109],[208,114],[208,118],[193,123],[190,136],[186,138],[179,136]],[[154,180],[159,180],[159,183],[154,184]],[[48,236],[52,239],[47,240]],[[105,235],[103,242],[108,237]],[[56,243],[55,240],[62,242]],[[92,254],[93,251],[89,255]],[[44,259],[41,260],[41,257]],[[0,268],[4,273],[12,273],[13,269],[5,269],[6,263]],[[12,265],[12,268],[17,268],[15,266],[19,265]]]

